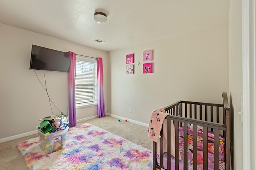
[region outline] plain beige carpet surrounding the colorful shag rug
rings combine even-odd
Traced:
[[[84,123],[96,125],[133,143],[152,150],[152,141],[148,138],[147,134],[148,127],[137,125],[129,121],[126,122],[121,120],[119,122],[118,119],[110,116],[102,117],[100,119],[90,119],[88,121],[79,122],[77,125]],[[27,170],[26,163],[18,149],[16,149],[16,145],[22,141],[35,137],[38,137],[38,134],[0,143],[0,170]]]

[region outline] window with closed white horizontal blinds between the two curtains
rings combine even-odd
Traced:
[[[97,103],[97,62],[76,57],[76,107]]]

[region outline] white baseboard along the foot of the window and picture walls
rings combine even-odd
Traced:
[[[142,123],[142,122],[139,122],[139,121],[135,121],[135,120],[128,119],[128,118],[125,118],[125,117],[121,117],[121,116],[118,116],[118,115],[113,115],[113,114],[110,114],[110,113],[106,113],[106,115],[109,115],[111,117],[115,117],[115,118],[121,119],[121,120],[126,120],[127,119],[128,121],[130,121],[132,123],[148,127],[147,123]],[[97,115],[91,116],[91,117],[86,117],[84,119],[78,119],[76,122],[86,121],[86,120],[94,119],[96,117],[97,117]],[[21,138],[21,137],[26,137],[26,136],[29,136],[29,135],[34,135],[36,133],[38,133],[38,132],[35,130],[35,131],[30,131],[30,132],[22,133],[22,134],[19,134],[19,135],[5,137],[5,138],[0,139],[0,143],[11,141],[11,140],[18,139],[18,138]]]

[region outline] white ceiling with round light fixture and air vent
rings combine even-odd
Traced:
[[[108,21],[96,23],[95,11]],[[227,23],[228,14],[229,0],[0,0],[0,23],[104,51]]]

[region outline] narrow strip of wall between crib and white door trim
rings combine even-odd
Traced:
[[[229,91],[233,114],[231,122],[234,170],[243,169],[243,126],[238,112],[242,96],[242,2],[230,1],[229,16]]]

